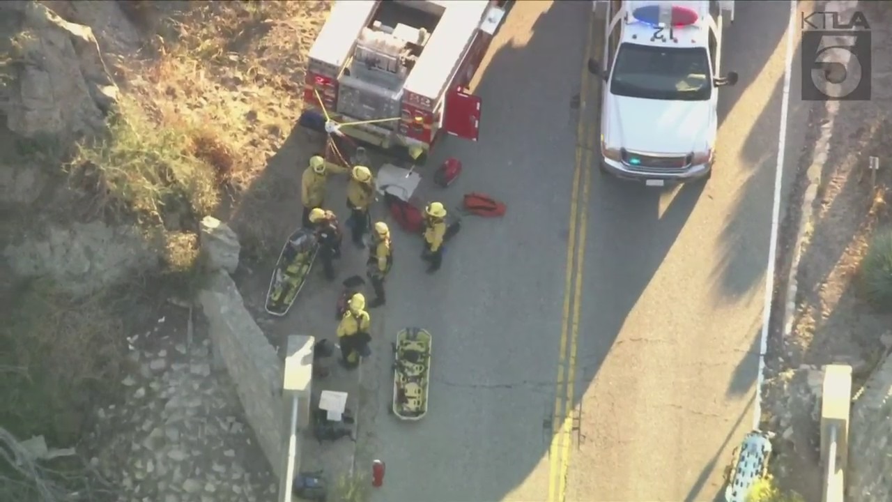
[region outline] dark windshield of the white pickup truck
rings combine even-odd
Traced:
[[[703,47],[619,46],[610,79],[617,96],[706,101],[712,96],[709,54]]]

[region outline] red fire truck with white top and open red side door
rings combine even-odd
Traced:
[[[310,49],[301,125],[415,163],[443,132],[476,141],[481,100],[467,86],[503,4],[338,0]]]

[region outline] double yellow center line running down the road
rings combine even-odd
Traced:
[[[585,262],[585,232],[588,226],[589,187],[591,164],[599,162],[594,153],[595,136],[599,117],[599,99],[592,92],[599,85],[597,78],[587,70],[594,43],[595,16],[590,14],[588,33],[582,59],[582,77],[579,91],[579,121],[576,126],[576,162],[573,174],[573,192],[570,197],[570,235],[566,249],[566,277],[564,285],[564,312],[560,334],[558,378],[556,379],[555,407],[551,421],[552,435],[549,446],[549,502],[566,501],[567,467],[570,463],[570,445],[574,442],[574,408],[576,380],[576,346],[579,339],[579,315],[582,311],[582,277]],[[600,54],[597,54],[600,57]],[[590,116],[591,115],[591,116]]]

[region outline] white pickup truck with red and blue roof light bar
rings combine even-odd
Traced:
[[[723,13],[715,0],[626,0],[607,4],[600,168],[648,186],[707,179],[718,129]]]

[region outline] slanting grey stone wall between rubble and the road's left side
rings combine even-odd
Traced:
[[[247,422],[274,473],[280,476],[283,441],[283,364],[263,331],[244,307],[235,282],[223,270],[215,272],[198,294],[210,323],[214,349],[226,364],[242,401]]]

